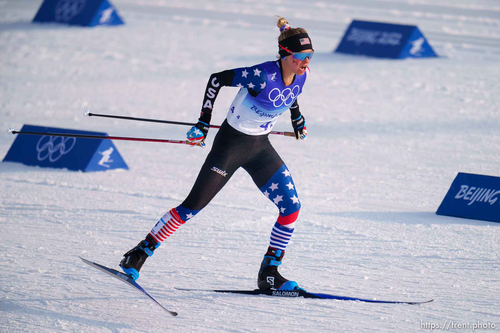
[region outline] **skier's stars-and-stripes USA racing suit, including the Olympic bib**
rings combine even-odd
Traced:
[[[158,242],[169,237],[180,225],[203,209],[222,189],[234,172],[242,167],[258,189],[278,209],[270,243],[284,251],[300,210],[290,172],[268,135],[277,118],[290,109],[291,118],[300,116],[297,96],[309,75],[295,75],[286,86],[281,63],[267,61],[213,73],[207,83],[200,121],[209,123],[213,103],[222,86],[239,87],[227,116],[215,135],[212,148],[185,200],[165,213],[149,235]]]

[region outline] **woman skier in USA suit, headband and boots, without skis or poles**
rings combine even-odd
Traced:
[[[142,264],[161,242],[203,209],[242,167],[258,189],[276,205],[279,214],[258,270],[257,286],[259,289],[301,289],[295,281],[283,278],[277,271],[293,233],[300,202],[290,172],[267,136],[276,119],[289,108],[295,138],[305,139],[306,123],[300,114],[297,96],[309,75],[307,65],[314,50],[305,29],[291,28],[282,17],[276,25],[280,30],[277,60],[210,76],[198,122],[186,133],[192,146],[198,143],[204,146],[213,103],[220,88],[239,87],[239,91],[187,198],[165,213],[145,239],[123,255],[119,265],[132,279],[139,277]]]

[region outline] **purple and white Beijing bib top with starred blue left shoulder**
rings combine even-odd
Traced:
[[[277,118],[302,92],[308,70],[303,75],[295,75],[293,82],[286,86],[278,61],[233,69],[231,86],[240,89],[227,112],[227,122],[238,131],[249,135],[269,133]],[[248,89],[258,94],[254,97]]]

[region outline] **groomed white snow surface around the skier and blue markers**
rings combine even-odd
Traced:
[[[272,15],[305,27],[316,50],[300,96],[309,135],[270,136],[302,205],[280,272],[309,291],[435,301],[174,290],[256,288],[277,212],[239,170],[140,272],[139,284],[179,313],[170,317],[77,256],[117,268],[185,198],[209,149],[114,141],[130,170],[0,163],[0,332],[415,332],[445,321],[500,329],[500,224],[434,214],[457,172],[500,176],[498,1],[112,0],[126,24],[95,28],[32,24],[40,3],[0,1],[4,130],[183,139],[183,126],[82,114],[194,122],[212,72],[274,58]],[[441,57],[332,53],[352,18],[416,24]],[[221,90],[212,124],[236,91]],[[275,128],[291,130],[288,117]],[[2,154],[14,138],[0,136]]]

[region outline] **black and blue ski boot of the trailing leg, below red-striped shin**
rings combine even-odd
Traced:
[[[147,235],[146,239],[137,244],[136,247],[123,255],[119,266],[127,276],[133,281],[139,278],[139,271],[147,257],[153,255],[153,251],[160,246],[161,243],[156,242],[151,236]]]

